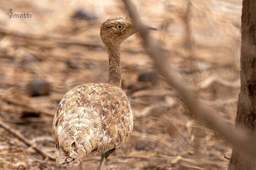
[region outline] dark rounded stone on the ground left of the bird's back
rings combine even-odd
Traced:
[[[26,88],[31,97],[49,95],[51,90],[50,84],[45,80],[34,80]]]

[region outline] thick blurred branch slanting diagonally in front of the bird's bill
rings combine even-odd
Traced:
[[[124,2],[130,17],[134,22],[135,28],[138,30],[141,38],[144,40],[146,49],[150,54],[150,57],[153,59],[159,73],[166,78],[166,81],[170,86],[179,92],[180,97],[187,105],[191,113],[193,113],[201,121],[207,123],[209,128],[217,131],[227,141],[232,143],[233,146],[239,149],[239,151],[247,157],[247,159],[255,160],[255,139],[252,140],[252,137],[250,138],[247,135],[248,131],[232,128],[225,121],[213,115],[210,109],[202,106],[202,104],[198,101],[194,90],[188,88],[189,85],[166,62],[167,56],[166,53],[164,53],[164,50],[144,30],[134,5],[129,0],[122,1]]]

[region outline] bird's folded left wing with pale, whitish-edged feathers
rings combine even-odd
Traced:
[[[90,98],[86,93],[83,88],[74,88],[59,104],[52,125],[58,163],[77,162],[100,140],[101,120],[97,108],[86,102]]]

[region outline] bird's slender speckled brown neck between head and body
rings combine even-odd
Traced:
[[[120,61],[120,45],[106,45],[106,51],[109,55],[109,84],[121,88],[121,61]]]

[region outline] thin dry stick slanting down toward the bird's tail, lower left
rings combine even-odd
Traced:
[[[21,141],[23,141],[27,146],[33,146],[34,144],[27,140],[26,138],[24,138],[24,136],[22,136],[20,133],[14,131],[10,126],[6,125],[4,122],[2,122],[0,120],[0,127],[4,128],[8,133],[14,135],[16,138],[20,139]],[[36,150],[36,152],[40,153],[41,155],[43,155],[44,159],[51,159],[51,160],[55,160],[55,157],[45,153],[39,146],[35,146],[33,147],[34,150]]]

